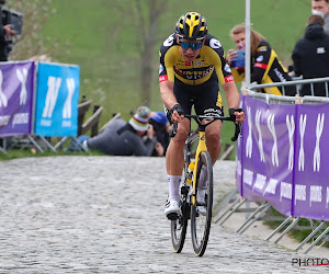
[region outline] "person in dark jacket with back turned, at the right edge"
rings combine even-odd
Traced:
[[[304,38],[299,39],[293,50],[294,72],[303,79],[329,77],[329,35],[324,31],[325,21],[319,15],[307,20]],[[314,95],[326,96],[325,83],[314,84]],[[310,84],[302,87],[300,95],[310,95]]]

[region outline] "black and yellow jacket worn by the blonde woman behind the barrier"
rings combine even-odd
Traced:
[[[236,82],[240,82],[245,79],[245,68],[231,68]],[[273,82],[286,82],[291,81],[287,70],[280,61],[274,49],[271,48],[266,41],[261,41],[257,48],[256,56],[251,57],[251,76],[250,82],[273,83]],[[294,95],[296,93],[295,88],[286,85],[286,95]],[[266,93],[282,95],[282,87],[273,87],[265,89]]]

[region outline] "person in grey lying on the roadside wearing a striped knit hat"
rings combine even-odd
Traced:
[[[150,110],[147,106],[139,106],[128,123],[117,118],[100,135],[84,140],[82,146],[112,156],[151,156],[155,147],[159,145],[148,124],[149,115]],[[143,141],[145,135],[147,138]]]

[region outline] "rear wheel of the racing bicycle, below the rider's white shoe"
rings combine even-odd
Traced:
[[[188,219],[190,215],[190,205],[186,202],[188,197],[188,187],[182,186],[182,205],[181,205],[181,215],[175,219],[171,220],[171,243],[173,251],[180,253],[184,247],[186,229],[188,229]]]

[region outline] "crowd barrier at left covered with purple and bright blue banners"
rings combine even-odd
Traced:
[[[78,134],[79,89],[79,66],[0,62],[0,137],[39,136],[55,150],[45,137]]]

